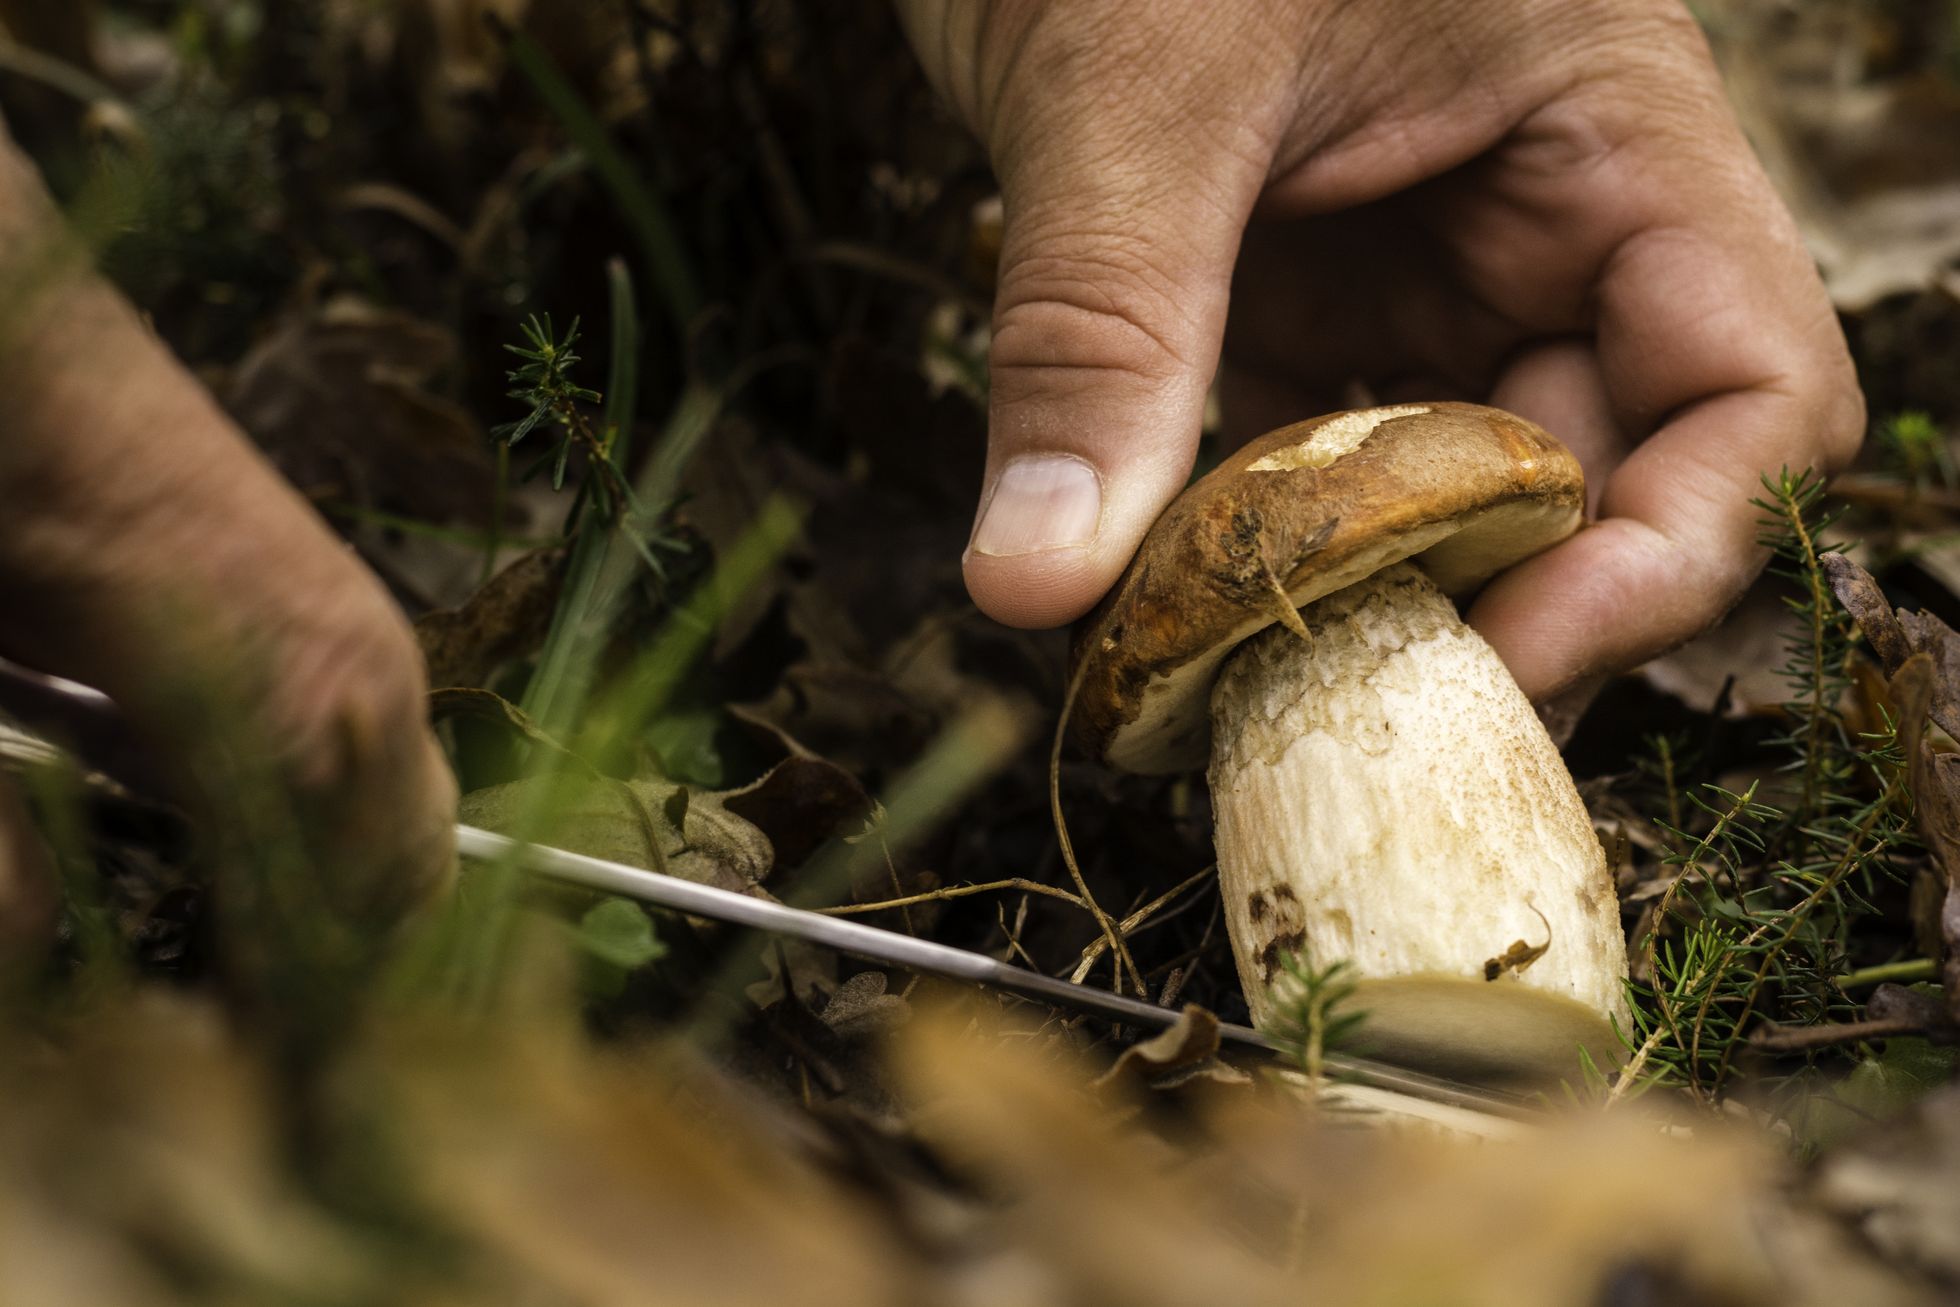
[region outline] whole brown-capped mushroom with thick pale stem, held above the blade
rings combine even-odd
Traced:
[[[1190,486],[1078,631],[1070,733],[1207,758],[1247,1003],[1348,960],[1378,1056],[1476,1078],[1615,1060],[1627,948],[1537,713],[1452,598],[1578,529],[1578,460],[1511,413],[1403,404],[1272,431]],[[1298,613],[1296,613],[1298,609]]]

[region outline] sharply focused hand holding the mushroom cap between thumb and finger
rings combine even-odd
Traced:
[[[1717,619],[1762,566],[1758,476],[1862,439],[1837,317],[1676,0],[898,8],[1005,204],[966,553],[1000,621],[1109,588],[1215,372],[1241,439],[1364,386],[1578,453],[1597,523],[1470,609],[1535,700]]]

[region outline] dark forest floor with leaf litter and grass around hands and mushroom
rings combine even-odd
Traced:
[[[4,999],[0,1299],[1960,1293],[1952,4],[1697,6],[1872,439],[1764,486],[1772,572],[1568,745],[1627,1064],[1448,1129],[1219,1046],[1196,776],[1064,756],[1064,866],[1068,637],[958,566],[998,200],[884,6],[37,8],[12,131],[416,619],[465,821],[1109,988],[1094,897],[1200,1011],[1131,1042],[508,866],[349,946],[276,831],[0,750],[69,888]]]

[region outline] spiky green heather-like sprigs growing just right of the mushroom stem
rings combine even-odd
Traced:
[[[1793,582],[1795,617],[1782,674],[1786,729],[1770,747],[1782,772],[1740,792],[1670,792],[1674,868],[1642,944],[1646,980],[1631,988],[1631,1058],[1613,1095],[1672,1084],[1707,1103],[1733,1086],[1740,1050],[1764,1023],[1813,1027],[1856,1015],[1837,984],[1852,933],[1878,915],[1872,897],[1917,848],[1895,723],[1854,735],[1840,711],[1854,629],[1819,564],[1823,482],[1764,478],[1762,543]],[[1672,758],[1656,770],[1674,776]],[[1770,801],[1774,799],[1774,801]],[[1758,1084],[1811,1088],[1854,1048],[1821,1044]],[[1791,1099],[1793,1101],[1793,1099]]]

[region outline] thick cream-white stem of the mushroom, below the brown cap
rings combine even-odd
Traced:
[[[1296,952],[1625,1017],[1599,841],[1490,645],[1409,564],[1301,617],[1311,643],[1284,627],[1249,639],[1211,694],[1219,882],[1254,1019],[1274,1015]],[[1517,941],[1548,948],[1486,982]]]

